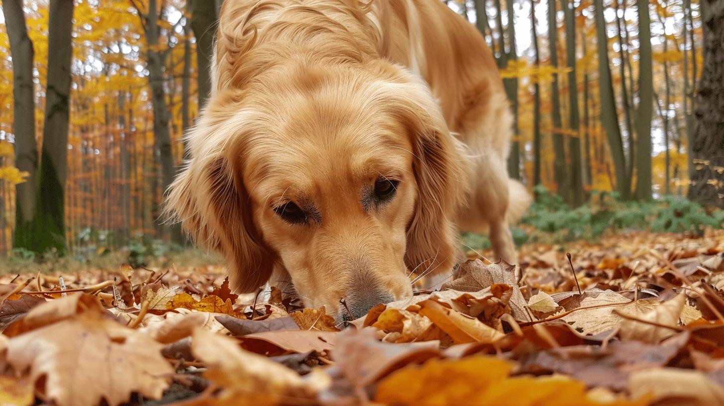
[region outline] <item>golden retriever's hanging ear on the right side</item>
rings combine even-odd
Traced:
[[[410,269],[447,271],[457,262],[455,221],[465,199],[467,173],[463,151],[447,129],[427,88],[398,99],[400,117],[413,145],[413,173],[418,196],[407,231],[405,263]]]

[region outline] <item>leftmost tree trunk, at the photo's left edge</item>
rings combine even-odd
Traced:
[[[35,89],[33,85],[33,41],[28,37],[22,0],[3,0],[7,36],[12,54],[13,124],[15,166],[28,173],[28,180],[15,186],[14,247],[30,247],[30,223],[35,212],[35,182],[38,144],[35,142]]]

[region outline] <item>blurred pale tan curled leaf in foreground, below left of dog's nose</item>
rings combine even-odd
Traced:
[[[192,343],[193,355],[207,365],[204,376],[221,389],[212,402],[202,404],[256,406],[286,405],[291,400],[311,402],[328,384],[300,378],[279,363],[244,351],[239,341],[203,328],[193,332]]]

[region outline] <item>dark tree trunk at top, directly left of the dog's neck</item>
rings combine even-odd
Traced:
[[[191,28],[196,37],[196,66],[198,67],[198,108],[209,99],[211,91],[211,57],[214,55],[216,34],[216,4],[209,0],[190,0]]]

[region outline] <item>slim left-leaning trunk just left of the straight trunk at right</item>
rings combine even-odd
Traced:
[[[616,177],[616,190],[622,199],[631,198],[631,178],[626,172],[626,158],[623,156],[623,142],[618,128],[618,114],[611,80],[611,68],[608,62],[608,36],[603,17],[603,0],[594,0],[596,33],[598,38],[598,74],[599,98],[601,102],[601,122],[608,138],[613,169]],[[650,148],[650,147],[649,147]],[[649,182],[650,183],[650,182]]]

